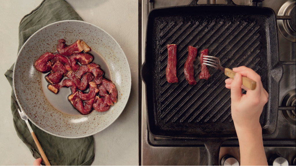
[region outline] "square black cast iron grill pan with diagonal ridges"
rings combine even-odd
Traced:
[[[282,75],[274,11],[238,6],[230,0],[227,5],[211,6],[197,6],[196,2],[149,13],[145,62],[141,68],[146,84],[149,131],[154,136],[171,138],[236,136],[230,90],[225,88],[227,77],[223,72],[208,67],[211,77],[198,79],[197,57],[194,70],[197,84],[189,85],[185,79],[187,47],[192,45],[197,47],[198,56],[208,48],[208,55],[219,57],[223,67],[247,66],[261,76],[269,101],[260,124],[264,135],[272,134],[276,128]],[[177,45],[178,83],[166,81],[167,44]]]

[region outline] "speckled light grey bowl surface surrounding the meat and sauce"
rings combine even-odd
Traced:
[[[118,89],[118,100],[107,112],[93,110],[89,115],[66,114],[46,99],[41,87],[44,78],[34,63],[46,51],[55,52],[58,40],[62,38],[67,44],[82,39],[108,64],[110,79]],[[101,28],[77,20],[55,22],[35,32],[20,49],[13,74],[15,96],[29,120],[47,133],[65,138],[90,136],[110,126],[123,111],[131,91],[131,71],[120,45]]]

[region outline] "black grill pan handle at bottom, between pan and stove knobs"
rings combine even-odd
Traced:
[[[207,149],[208,164],[219,165],[220,147],[226,138],[202,138],[201,141],[205,144]]]

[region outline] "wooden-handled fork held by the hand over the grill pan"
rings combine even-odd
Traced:
[[[215,69],[221,70],[223,71],[223,73],[228,76],[229,78],[234,79],[236,72],[232,71],[229,68],[225,68],[221,66],[220,63],[220,59],[215,57],[215,56],[205,56],[203,55],[203,57],[206,58],[202,58],[208,61],[203,61],[202,64],[205,64],[207,66],[211,66]],[[242,76],[242,85],[244,85],[245,87],[247,87],[248,89],[254,90],[256,88],[256,82],[248,77],[244,77]]]

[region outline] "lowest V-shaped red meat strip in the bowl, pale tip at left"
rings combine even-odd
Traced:
[[[83,101],[79,98],[78,92],[70,95],[68,99],[74,108],[76,108],[83,115],[89,114],[94,104],[94,99],[84,101],[83,104]]]

